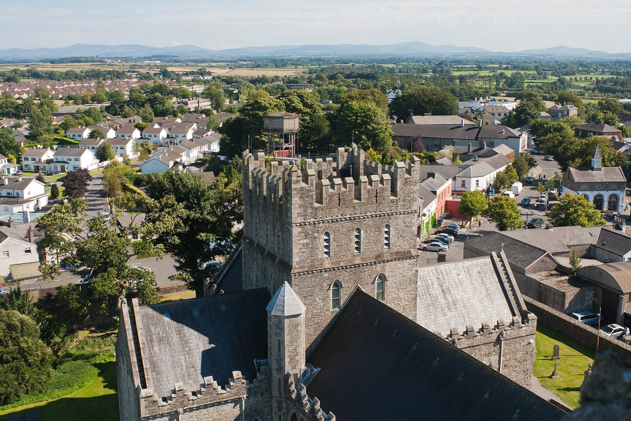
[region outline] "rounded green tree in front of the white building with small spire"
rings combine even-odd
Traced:
[[[552,207],[548,220],[554,227],[594,227],[604,225],[600,211],[581,194],[563,194],[559,203]]]

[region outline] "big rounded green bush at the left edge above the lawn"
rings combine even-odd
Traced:
[[[0,405],[42,390],[52,374],[52,352],[37,324],[17,311],[0,310]]]

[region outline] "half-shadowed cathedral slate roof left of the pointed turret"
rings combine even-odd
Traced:
[[[254,360],[268,355],[268,300],[268,290],[260,288],[138,307],[144,371],[153,391],[168,396],[175,382],[199,390],[206,376],[223,386],[237,370],[249,381],[256,378]]]

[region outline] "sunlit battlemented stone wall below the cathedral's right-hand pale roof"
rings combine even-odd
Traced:
[[[463,335],[449,335],[448,340],[495,370],[500,364],[501,348],[502,374],[529,389],[536,355],[534,334],[537,317],[532,313],[526,316],[526,323],[521,323],[520,317],[514,317],[506,324],[497,321],[493,327],[484,323],[478,331],[468,326],[468,331]]]

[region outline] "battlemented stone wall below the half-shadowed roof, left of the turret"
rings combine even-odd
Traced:
[[[181,383],[174,385],[168,398],[158,398],[143,391],[140,404],[141,420],[162,421],[246,421],[269,420],[269,369],[261,371],[248,383],[239,371],[232,372],[230,384],[221,388],[212,376],[204,377],[204,387],[188,391]],[[245,413],[245,417],[244,417]]]

